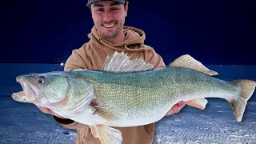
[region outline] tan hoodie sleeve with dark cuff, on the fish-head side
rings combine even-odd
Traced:
[[[67,59],[64,70],[75,70],[75,69],[88,69],[87,64],[89,61],[86,60],[86,53],[83,48],[73,50],[70,57]],[[58,122],[62,126],[68,129],[80,129],[86,125],[75,122],[71,119],[62,119],[53,115],[54,121]]]

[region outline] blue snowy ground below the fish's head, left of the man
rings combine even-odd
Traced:
[[[62,128],[37,106],[0,98],[0,143],[74,143],[76,131]]]

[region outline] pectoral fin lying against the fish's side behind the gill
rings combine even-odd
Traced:
[[[126,118],[127,114],[118,112],[116,110],[110,110],[105,107],[101,106],[94,106],[95,108],[95,114],[98,114],[102,118],[108,120],[108,121],[115,121],[121,118]]]

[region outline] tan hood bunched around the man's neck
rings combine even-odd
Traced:
[[[114,50],[126,50],[126,51],[145,51],[150,50],[149,47],[144,46],[144,41],[146,34],[143,30],[131,26],[123,26],[123,32],[125,34],[125,39],[119,43],[112,43],[106,38],[102,38],[98,34],[95,26],[92,28],[91,33],[88,34],[90,38],[90,43],[100,47],[109,47]]]

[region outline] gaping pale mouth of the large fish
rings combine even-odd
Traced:
[[[32,88],[33,86],[30,85],[30,82],[26,81],[26,78],[24,76],[18,76],[16,78],[16,82],[18,82],[22,86],[22,90],[18,93],[12,94],[12,98],[17,100],[18,97],[22,97],[23,101],[31,102],[35,100],[36,92]],[[20,99],[20,98],[18,98]],[[20,101],[20,100],[19,100]]]

